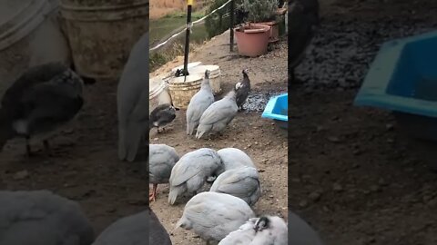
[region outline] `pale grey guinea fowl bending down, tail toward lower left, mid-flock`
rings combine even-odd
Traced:
[[[201,148],[183,155],[171,170],[168,203],[174,204],[184,193],[197,193],[208,177],[219,176],[224,171],[219,154],[208,148]]]

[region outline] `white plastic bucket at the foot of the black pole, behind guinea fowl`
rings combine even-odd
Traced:
[[[202,81],[203,76],[197,74],[172,78],[168,83],[168,91],[173,105],[186,110],[191,97],[200,90]]]

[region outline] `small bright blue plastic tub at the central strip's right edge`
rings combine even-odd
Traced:
[[[289,128],[289,93],[280,94],[269,99],[261,117],[273,119],[283,129]]]

